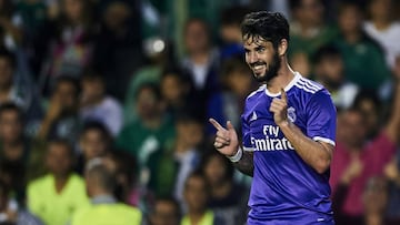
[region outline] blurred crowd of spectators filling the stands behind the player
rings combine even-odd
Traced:
[[[337,224],[400,224],[394,0],[0,0],[0,224],[246,224],[251,178],[207,119],[240,131],[261,9],[337,106]]]

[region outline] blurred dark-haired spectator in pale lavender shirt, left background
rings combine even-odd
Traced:
[[[106,80],[97,71],[86,71],[81,78],[80,115],[82,121],[98,121],[112,136],[122,129],[123,113],[120,103],[106,93]]]

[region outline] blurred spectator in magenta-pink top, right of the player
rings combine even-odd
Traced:
[[[351,108],[343,112],[338,123],[338,141],[331,164],[330,184],[334,194],[340,181],[350,180],[349,194],[341,212],[346,216],[360,216],[362,208],[362,190],[369,177],[383,173],[384,165],[390,162],[399,143],[400,126],[400,88],[393,99],[391,116],[381,129],[376,127],[378,134],[368,139],[368,115],[366,109]],[[372,120],[371,120],[372,121]],[[362,172],[352,176],[347,175],[351,165],[360,161]]]

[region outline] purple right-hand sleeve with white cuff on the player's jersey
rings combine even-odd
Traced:
[[[328,91],[313,94],[306,108],[307,135],[314,141],[334,145],[337,113]]]

